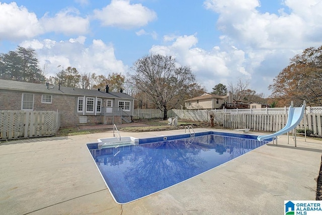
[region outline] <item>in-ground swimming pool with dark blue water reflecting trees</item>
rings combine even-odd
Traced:
[[[260,142],[256,137],[211,131],[195,136],[139,139],[138,145],[102,148],[98,143],[91,143],[87,146],[115,201],[128,203],[197,176],[268,142]]]

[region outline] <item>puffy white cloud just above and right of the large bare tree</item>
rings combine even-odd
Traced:
[[[195,35],[164,36],[165,41],[172,41],[168,46],[154,45],[151,54],[172,55],[180,65],[188,65],[196,75],[199,83],[211,89],[219,84],[228,85],[238,77],[250,78],[245,67],[245,52],[236,47],[221,50],[218,46],[211,51],[196,47],[198,38]]]

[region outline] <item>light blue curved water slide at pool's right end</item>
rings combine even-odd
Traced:
[[[288,109],[288,118],[286,125],[279,131],[268,134],[268,135],[259,135],[257,139],[262,141],[264,139],[272,138],[281,134],[284,134],[292,129],[294,129],[302,120],[305,111],[305,101],[303,102],[302,107],[293,107],[293,102]]]

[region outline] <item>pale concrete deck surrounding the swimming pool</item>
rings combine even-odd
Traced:
[[[218,129],[196,128],[196,132]],[[184,129],[129,133],[153,137]],[[250,132],[248,134],[259,135]],[[116,203],[86,144],[113,131],[0,144],[0,214],[284,214],[284,200],[315,200],[322,141],[279,136],[183,183]]]

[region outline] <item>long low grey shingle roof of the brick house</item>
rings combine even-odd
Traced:
[[[134,99],[132,96],[126,93],[109,92],[105,93],[105,89],[102,91],[79,89],[71,87],[60,87],[45,84],[34,84],[28,82],[17,82],[0,79],[0,90],[12,90],[12,91],[24,91],[33,93],[44,93],[44,94],[59,94],[59,95],[72,95],[72,96],[95,96],[101,98],[122,98],[122,99]]]

